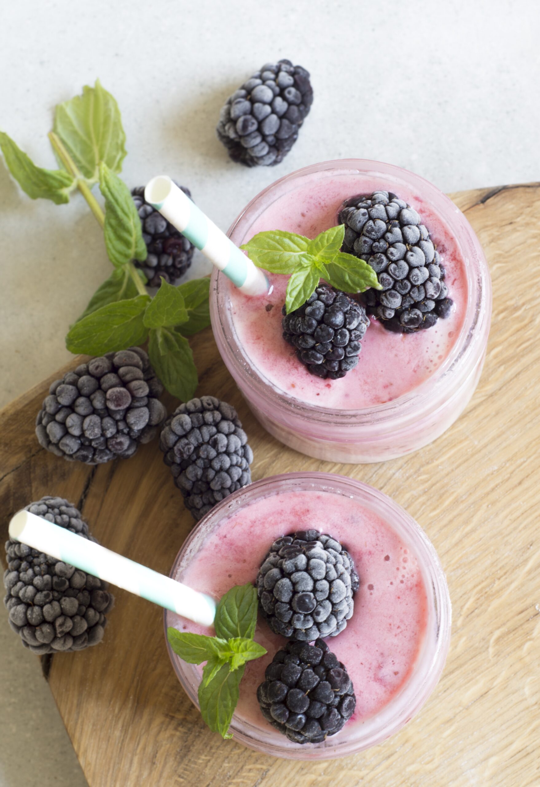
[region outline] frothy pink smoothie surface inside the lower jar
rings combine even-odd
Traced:
[[[340,494],[275,493],[223,519],[176,578],[219,598],[234,585],[255,582],[276,538],[311,527],[347,546],[360,576],[354,615],[345,630],[326,640],[347,667],[356,693],[356,711],[347,730],[376,714],[399,692],[417,660],[428,621],[427,593],[417,559],[387,523]],[[213,633],[178,616],[171,620],[178,630]],[[235,712],[255,726],[270,729],[255,692],[285,638],[273,634],[259,615],[255,640],[268,652],[248,663]]]

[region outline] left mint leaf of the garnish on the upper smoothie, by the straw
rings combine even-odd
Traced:
[[[293,273],[299,266],[310,264],[309,243],[309,238],[303,235],[272,230],[259,232],[241,249],[248,252],[248,257],[258,268],[270,273]]]

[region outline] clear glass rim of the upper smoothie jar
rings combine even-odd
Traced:
[[[293,411],[295,416],[315,418],[318,422],[323,423],[337,422],[343,425],[391,422],[391,428],[395,429],[396,421],[399,422],[401,419],[406,421],[411,414],[424,413],[426,408],[429,411],[434,411],[440,401],[446,401],[449,389],[454,390],[451,384],[447,384],[447,381],[450,383],[449,373],[457,367],[461,369],[468,368],[468,358],[471,357],[474,347],[478,344],[476,338],[479,334],[483,334],[484,331],[489,331],[491,311],[489,270],[482,247],[472,227],[465,215],[446,194],[443,194],[428,180],[409,170],[397,167],[394,164],[384,164],[384,162],[367,159],[340,159],[324,161],[320,164],[310,164],[310,166],[300,168],[277,179],[248,202],[248,205],[245,206],[233,221],[233,224],[231,224],[227,235],[231,237],[248,212],[264,201],[264,198],[271,194],[272,191],[279,190],[280,187],[287,183],[293,183],[297,179],[316,172],[339,172],[340,170],[348,170],[367,176],[380,176],[387,180],[392,177],[401,179],[403,183],[410,187],[418,187],[419,193],[422,196],[427,195],[428,201],[432,205],[436,203],[434,205],[435,211],[443,214],[442,219],[454,235],[457,246],[465,260],[469,289],[464,323],[454,342],[454,346],[443,361],[443,364],[413,390],[403,393],[391,401],[354,410],[328,408],[322,405],[308,404],[300,399],[296,399],[289,393],[277,389],[272,382],[266,380],[261,373],[253,369],[252,361],[244,354],[240,342],[237,341],[230,313],[227,309],[220,308],[220,302],[226,297],[229,283],[228,279],[217,270],[214,270],[211,275],[211,290],[215,294],[215,297],[210,299],[212,328],[216,336],[219,333],[229,363],[237,371],[237,374],[241,375],[243,384],[248,386],[255,395],[264,401],[269,401],[271,405],[281,412]],[[468,246],[468,249],[465,246]],[[476,290],[476,297],[471,298],[470,295],[474,290]],[[483,305],[486,308],[483,308]],[[474,357],[476,359],[476,354]],[[436,391],[435,395],[434,390]]]

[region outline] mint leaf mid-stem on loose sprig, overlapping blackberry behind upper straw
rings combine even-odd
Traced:
[[[108,258],[119,268],[130,260],[146,259],[141,220],[130,190],[104,161],[99,165],[99,187],[105,197],[105,246]]]

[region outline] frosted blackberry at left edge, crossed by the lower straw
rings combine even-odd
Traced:
[[[80,512],[61,497],[42,497],[26,510],[96,541]],[[19,541],[6,542],[6,557],[4,604],[25,648],[42,655],[101,642],[114,601],[106,582]]]

